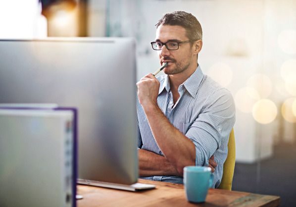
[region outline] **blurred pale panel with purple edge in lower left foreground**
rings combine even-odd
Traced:
[[[76,207],[76,110],[1,106],[0,207]]]

